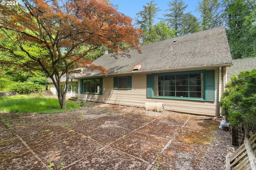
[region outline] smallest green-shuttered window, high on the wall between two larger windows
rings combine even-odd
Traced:
[[[114,89],[119,89],[119,90],[132,89],[132,76],[114,77]]]

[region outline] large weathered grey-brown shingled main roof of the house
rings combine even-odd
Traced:
[[[132,49],[130,58],[118,56],[117,59],[109,53],[92,63],[107,68],[108,74],[132,73],[136,65],[141,65],[136,72],[147,72],[232,63],[224,26],[143,45],[141,51]]]

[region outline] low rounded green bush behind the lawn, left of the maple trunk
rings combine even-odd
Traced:
[[[25,94],[30,94],[30,93],[40,93],[42,92],[42,89],[44,86],[38,85],[36,83],[31,83],[31,82],[19,82],[15,83],[12,86],[11,91],[18,92],[19,94],[25,95]]]

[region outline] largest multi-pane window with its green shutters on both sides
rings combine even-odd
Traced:
[[[215,101],[214,70],[147,75],[147,97]]]

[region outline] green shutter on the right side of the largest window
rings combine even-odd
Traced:
[[[215,73],[214,70],[206,71],[206,101],[215,101]]]

